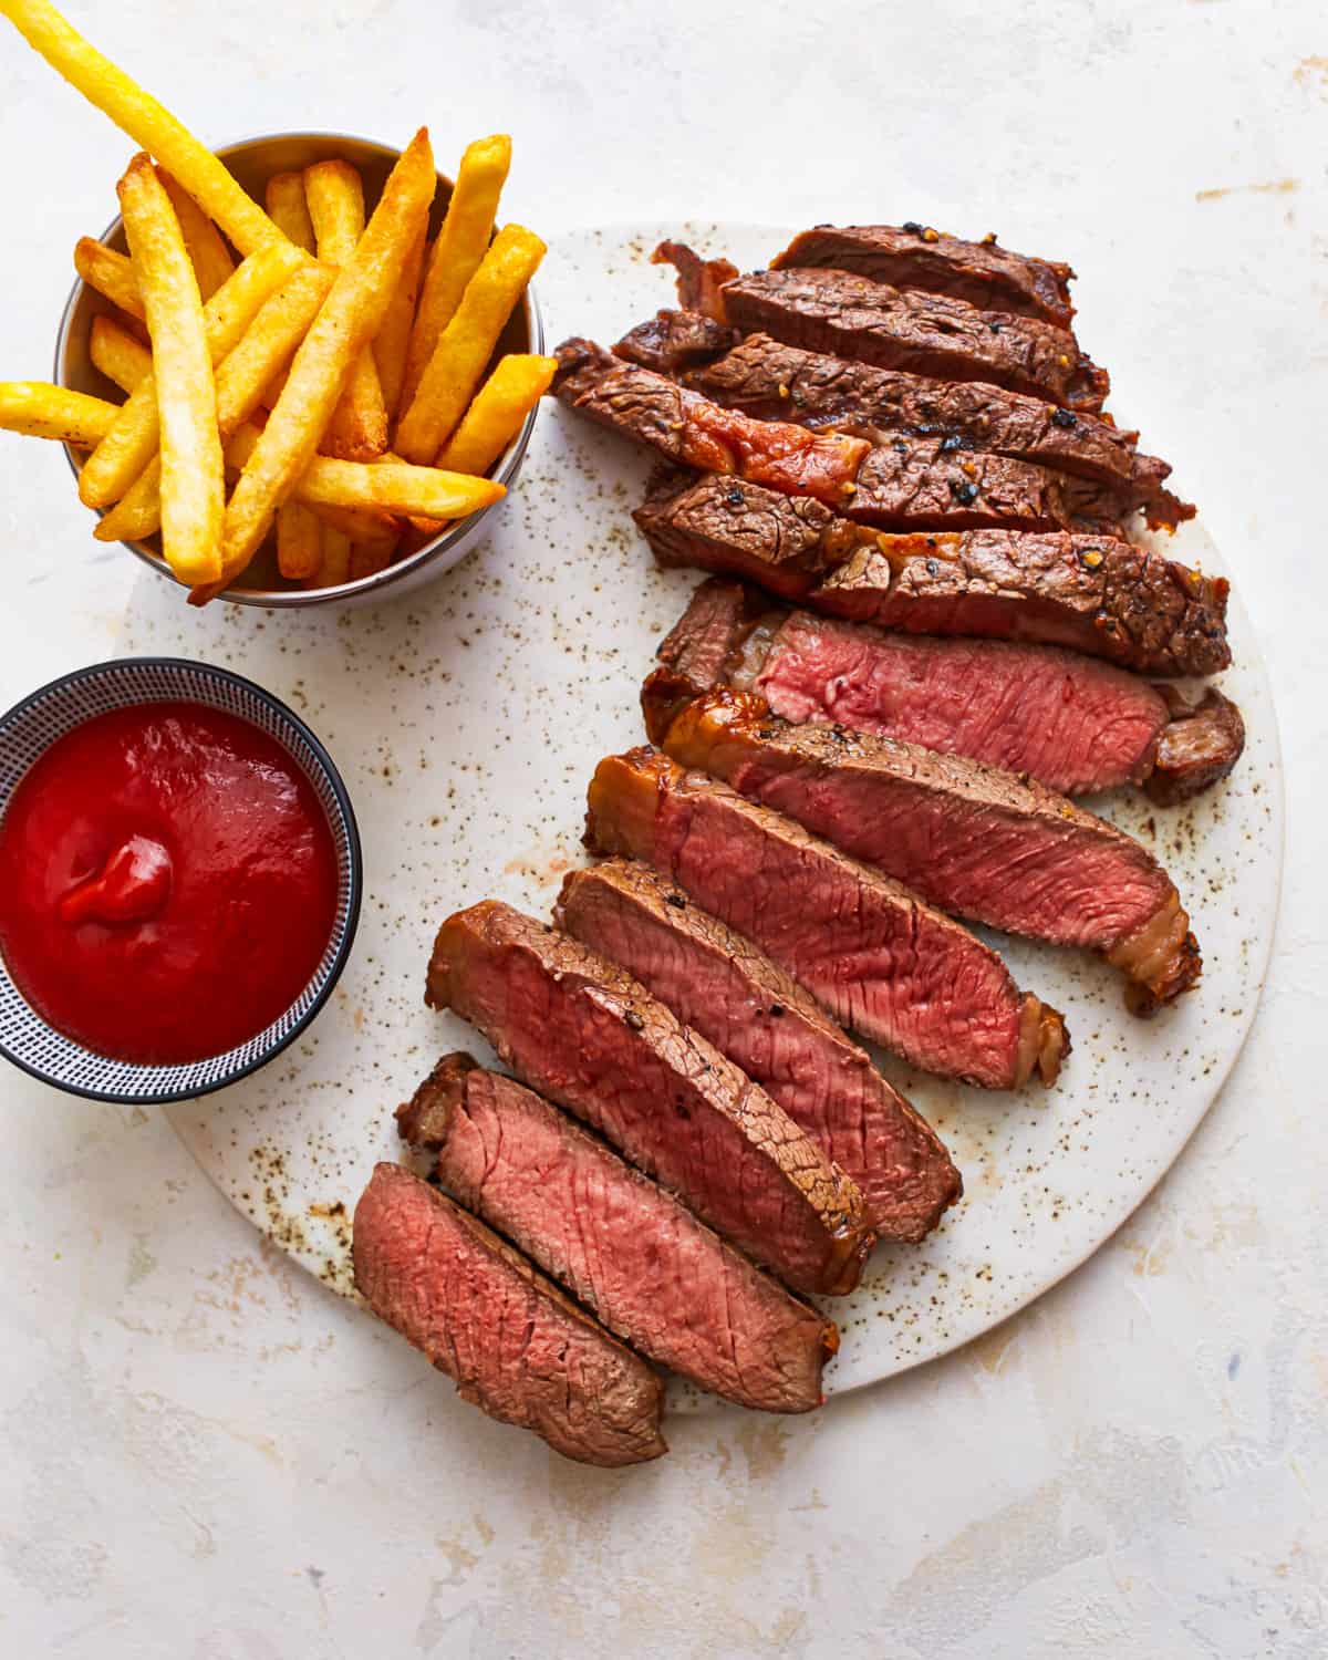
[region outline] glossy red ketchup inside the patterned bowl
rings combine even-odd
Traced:
[[[58,1031],[173,1064],[257,1036],[314,976],[337,855],[309,779],[203,704],[113,709],[23,775],[0,823],[0,951]]]

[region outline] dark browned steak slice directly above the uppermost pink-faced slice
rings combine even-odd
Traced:
[[[661,473],[632,515],[666,566],[908,634],[1071,646],[1144,674],[1230,666],[1225,578],[1107,536],[891,536],[734,478]]]

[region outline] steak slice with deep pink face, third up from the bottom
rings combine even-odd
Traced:
[[[852,1291],[863,1197],[732,1061],[614,963],[493,900],[450,916],[427,1001],[800,1291]]]

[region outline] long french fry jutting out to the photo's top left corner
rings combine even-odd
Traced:
[[[7,17],[28,45],[90,103],[156,156],[241,254],[252,254],[272,239],[282,241],[281,231],[244,194],[224,163],[151,93],[90,45],[50,0],[0,0],[0,17]]]

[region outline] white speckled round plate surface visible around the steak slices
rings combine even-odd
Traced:
[[[556,237],[540,279],[549,337],[613,340],[667,304],[666,274],[646,257],[666,229],[679,231]],[[744,226],[687,234],[744,266],[787,241]],[[335,999],[264,1072],[169,1109],[221,1190],[339,1291],[350,1291],[349,1212],[374,1162],[398,1155],[392,1109],[443,1049],[488,1052],[423,1008],[433,930],[488,895],[548,913],[581,862],[591,767],[641,740],[641,677],[697,581],[657,571],[636,535],[627,513],[646,471],[641,455],[549,407],[491,538],[422,594],[276,616],[191,611],[148,574],[134,589],[123,651],[208,657],[271,687],[322,737],[355,800],[365,903]],[[1170,548],[1222,568],[1199,526]],[[1109,969],[1003,941],[1019,984],[1066,1013],[1074,1054],[1059,1087],[984,1094],[886,1062],[951,1145],[966,1197],[921,1247],[880,1248],[862,1288],[833,1305],[832,1393],[931,1360],[1054,1285],[1140,1204],[1222,1087],[1255,1014],[1282,870],[1277,724],[1238,599],[1232,642],[1223,686],[1250,735],[1237,775],[1182,812],[1127,793],[1094,803],[1170,868],[1204,948],[1200,989],[1144,1024]]]

